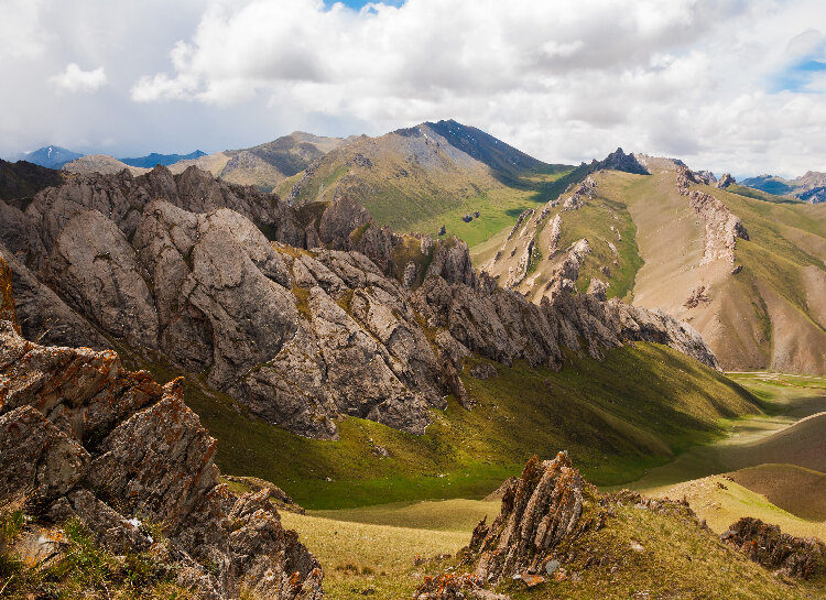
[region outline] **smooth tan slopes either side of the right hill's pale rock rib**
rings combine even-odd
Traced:
[[[737,242],[743,269],[735,276],[725,265],[697,266],[704,231],[696,215],[676,194],[674,171],[652,173],[607,172],[598,188],[627,206],[638,228],[644,264],[634,302],[689,320],[727,368],[822,372],[826,330],[815,282],[826,270],[826,209],[764,193],[745,196],[739,187],[695,186],[719,198],[749,231],[748,241]],[[685,307],[699,285],[711,303]]]

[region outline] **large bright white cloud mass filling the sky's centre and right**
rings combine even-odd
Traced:
[[[131,97],[216,108],[267,98],[378,131],[454,117],[548,161],[621,144],[757,168],[771,159],[722,132],[790,152],[792,132],[806,132],[826,152],[819,98],[772,94],[772,77],[820,43],[805,24],[826,19],[815,1],[790,4],[214,1],[171,68],[138,79]]]

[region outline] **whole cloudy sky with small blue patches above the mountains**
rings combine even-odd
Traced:
[[[826,171],[824,0],[0,0],[0,156],[215,152],[456,119],[553,163],[617,146]]]

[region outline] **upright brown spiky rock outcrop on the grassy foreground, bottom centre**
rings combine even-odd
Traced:
[[[553,549],[588,527],[588,520],[580,517],[587,497],[595,493],[567,452],[542,462],[534,456],[504,490],[499,516],[490,526],[482,520],[474,530],[468,554],[477,560],[475,575],[496,585],[543,572]]]

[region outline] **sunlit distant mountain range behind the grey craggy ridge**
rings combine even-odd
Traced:
[[[553,282],[580,293],[593,282],[606,297],[688,320],[729,370],[826,370],[823,211],[749,187],[754,179],[717,182],[682,161],[621,150],[577,167],[551,165],[456,121],[378,138],[294,132],[198,154],[171,172],[198,166],[229,183],[275,188],[307,210],[346,198],[380,227],[455,234],[477,268],[536,303],[555,293]],[[149,173],[106,155],[64,165],[68,173],[123,168]],[[795,182],[809,200],[823,183],[814,173]],[[692,199],[694,192],[703,198]]]

